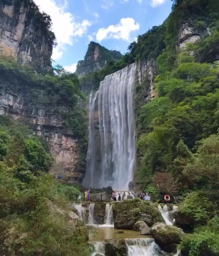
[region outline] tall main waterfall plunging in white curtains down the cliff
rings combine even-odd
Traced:
[[[136,64],[106,76],[89,100],[85,187],[128,190],[136,162],[134,82]],[[98,124],[99,123],[99,124]],[[98,127],[99,126],[99,127]],[[97,154],[100,152],[100,160]]]

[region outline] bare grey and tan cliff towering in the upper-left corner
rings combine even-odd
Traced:
[[[0,52],[37,72],[51,67],[54,34],[47,30],[29,0],[0,1]]]

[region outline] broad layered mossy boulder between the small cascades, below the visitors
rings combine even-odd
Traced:
[[[134,224],[141,220],[149,227],[163,218],[158,209],[150,201],[138,198],[113,203],[114,228],[133,229]]]

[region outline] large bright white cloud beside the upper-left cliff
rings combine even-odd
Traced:
[[[58,5],[55,0],[34,0],[40,7],[40,11],[46,12],[52,19],[52,31],[55,33],[58,46],[53,49],[52,59],[61,59],[65,50],[65,45],[72,45],[74,37],[81,37],[91,26],[88,20],[81,23],[75,22],[74,16],[66,11],[68,2],[62,0],[62,5]]]

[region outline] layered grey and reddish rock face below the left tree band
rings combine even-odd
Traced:
[[[27,97],[10,91],[5,85],[0,91],[0,115],[30,124],[37,135],[47,140],[56,160],[52,170],[55,177],[62,175],[66,183],[82,183],[86,167],[74,134],[64,127],[60,117],[54,115],[53,107],[33,104]]]

